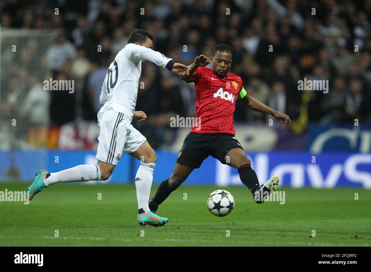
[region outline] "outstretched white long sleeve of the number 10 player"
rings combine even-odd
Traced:
[[[144,59],[165,68],[166,64],[172,60],[171,58],[167,58],[160,52],[154,51],[151,48],[139,46],[137,44],[128,44],[127,46],[129,46],[127,57],[134,63],[138,63]]]

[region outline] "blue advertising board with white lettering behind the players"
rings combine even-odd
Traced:
[[[6,156],[1,152],[1,156]],[[19,179],[30,181],[38,169],[29,169],[21,162],[22,157],[31,157],[27,151],[14,154],[15,167],[20,173]],[[154,184],[159,184],[170,177],[177,158],[177,152],[157,151],[157,165],[154,171]],[[262,184],[273,175],[280,176],[281,186],[288,187],[364,187],[371,188],[371,154],[352,152],[248,152],[252,167]],[[60,171],[85,163],[95,164],[95,152],[91,151],[48,151],[46,169]],[[58,160],[57,160],[58,158]],[[57,162],[58,161],[58,162]],[[112,176],[107,181],[90,181],[94,183],[128,183],[135,179],[139,161],[127,154],[122,155]],[[1,164],[0,179],[5,179],[9,162]],[[40,165],[39,168],[42,168]],[[200,169],[195,169],[185,184],[192,185],[242,185],[237,169],[221,164],[216,159],[207,158]]]

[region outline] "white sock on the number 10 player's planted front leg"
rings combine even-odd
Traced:
[[[148,199],[150,198],[153,171],[155,162],[143,162],[138,168],[135,176],[135,187],[137,187],[138,214],[144,214],[150,211],[148,208]]]

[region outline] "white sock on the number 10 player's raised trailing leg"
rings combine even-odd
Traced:
[[[44,182],[49,187],[49,185],[58,182],[101,180],[101,178],[101,168],[98,165],[82,164],[60,172],[50,173]]]

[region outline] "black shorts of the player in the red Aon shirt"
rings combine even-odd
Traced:
[[[224,158],[228,151],[233,148],[243,150],[240,142],[233,134],[190,132],[184,139],[177,163],[192,168],[200,168],[204,159],[211,155],[219,159],[222,164],[227,164]]]

